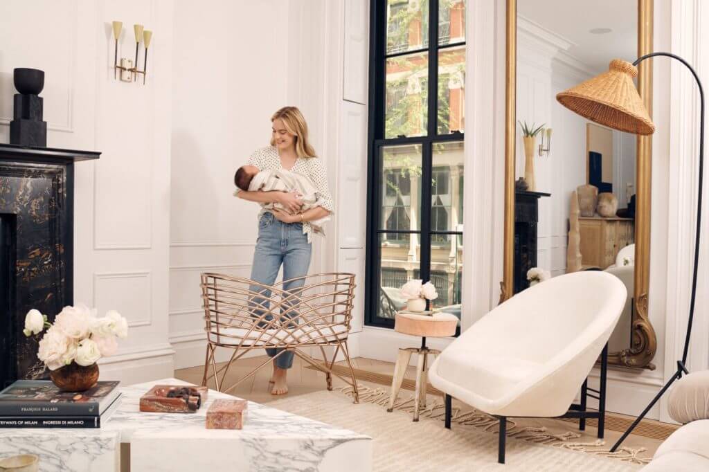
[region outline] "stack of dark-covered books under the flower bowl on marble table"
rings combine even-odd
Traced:
[[[0,428],[99,428],[121,404],[118,382],[62,392],[51,381],[20,380],[0,392]]]

